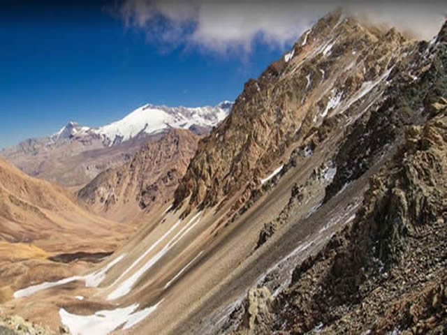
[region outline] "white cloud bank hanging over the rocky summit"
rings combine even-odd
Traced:
[[[430,1],[369,5],[342,0],[126,0],[119,14],[126,27],[144,29],[149,40],[164,45],[250,52],[256,38],[284,48],[319,17],[339,6],[425,39],[437,33],[447,9],[443,3]]]

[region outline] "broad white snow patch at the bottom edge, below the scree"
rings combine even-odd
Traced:
[[[68,313],[64,308],[59,310],[62,324],[68,327],[72,335],[107,335],[118,327],[129,329],[141,322],[163,302],[161,299],[153,306],[135,310],[139,304],[133,304],[124,308],[111,311],[98,311],[93,315],[76,315]]]

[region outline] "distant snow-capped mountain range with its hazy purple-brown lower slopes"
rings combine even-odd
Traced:
[[[99,128],[70,121],[53,135],[24,140],[0,151],[0,157],[32,177],[79,189],[100,172],[129,162],[140,145],[158,140],[172,128],[209,133],[232,107],[230,101],[204,107],[147,104]]]

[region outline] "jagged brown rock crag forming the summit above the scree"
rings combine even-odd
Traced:
[[[175,205],[190,197],[191,207],[213,206],[256,185],[326,120],[352,123],[380,99],[393,72],[416,56],[415,48],[395,29],[330,13],[258,80],[245,84],[230,117],[200,141]]]

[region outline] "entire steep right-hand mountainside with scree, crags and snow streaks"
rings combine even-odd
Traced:
[[[3,308],[84,335],[443,334],[446,31],[323,17],[247,82],[96,287]]]

